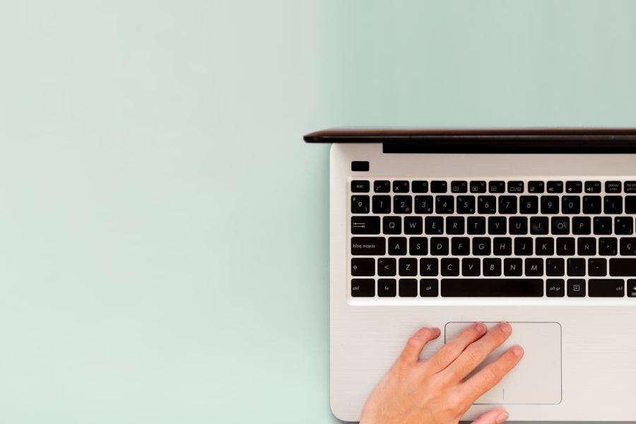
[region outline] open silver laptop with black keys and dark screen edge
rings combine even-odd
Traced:
[[[328,129],[331,410],[422,326],[506,321],[517,367],[466,412],[636,420],[636,129]],[[492,358],[486,360],[488,363]]]

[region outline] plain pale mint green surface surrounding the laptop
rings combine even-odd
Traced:
[[[4,1],[0,422],[329,423],[324,126],[636,125],[630,1]]]

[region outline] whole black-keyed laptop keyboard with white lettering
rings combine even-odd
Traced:
[[[350,196],[353,298],[636,298],[636,180],[353,179]]]

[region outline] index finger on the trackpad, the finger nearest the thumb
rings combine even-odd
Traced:
[[[523,356],[524,350],[521,346],[512,346],[495,362],[483,367],[476,375],[461,384],[460,391],[471,399],[472,404],[479,396],[495,387]]]

